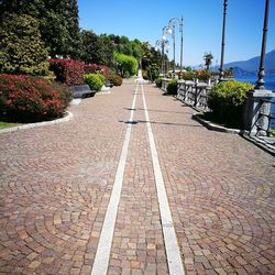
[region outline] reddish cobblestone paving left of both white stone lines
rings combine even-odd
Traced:
[[[0,273],[90,274],[129,89],[85,99],[70,122],[0,135]]]

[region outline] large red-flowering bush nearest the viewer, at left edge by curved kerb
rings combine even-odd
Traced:
[[[25,75],[0,75],[0,117],[18,122],[62,117],[72,100],[64,85]]]

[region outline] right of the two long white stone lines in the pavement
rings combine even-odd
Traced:
[[[158,205],[160,205],[160,212],[161,212],[161,219],[162,219],[162,228],[163,228],[163,235],[164,235],[164,243],[165,243],[165,250],[166,250],[166,255],[167,255],[169,274],[183,275],[185,274],[185,271],[184,271],[184,265],[183,265],[183,261],[180,256],[180,250],[177,243],[177,238],[176,238],[176,232],[175,232],[175,228],[174,228],[174,223],[172,219],[169,202],[167,199],[162,169],[161,169],[161,165],[158,162],[154,135],[153,135],[153,131],[151,128],[146,100],[144,96],[143,85],[141,87],[142,87],[143,106],[144,106],[145,120],[146,120],[146,125],[147,125],[148,142],[150,142],[151,155],[152,155],[152,161],[153,161],[156,193],[157,193]]]

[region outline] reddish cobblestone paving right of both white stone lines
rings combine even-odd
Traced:
[[[275,274],[274,158],[145,90],[187,274]]]

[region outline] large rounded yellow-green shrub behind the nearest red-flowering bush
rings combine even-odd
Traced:
[[[38,22],[30,15],[12,14],[0,29],[0,73],[48,74],[47,51]]]

